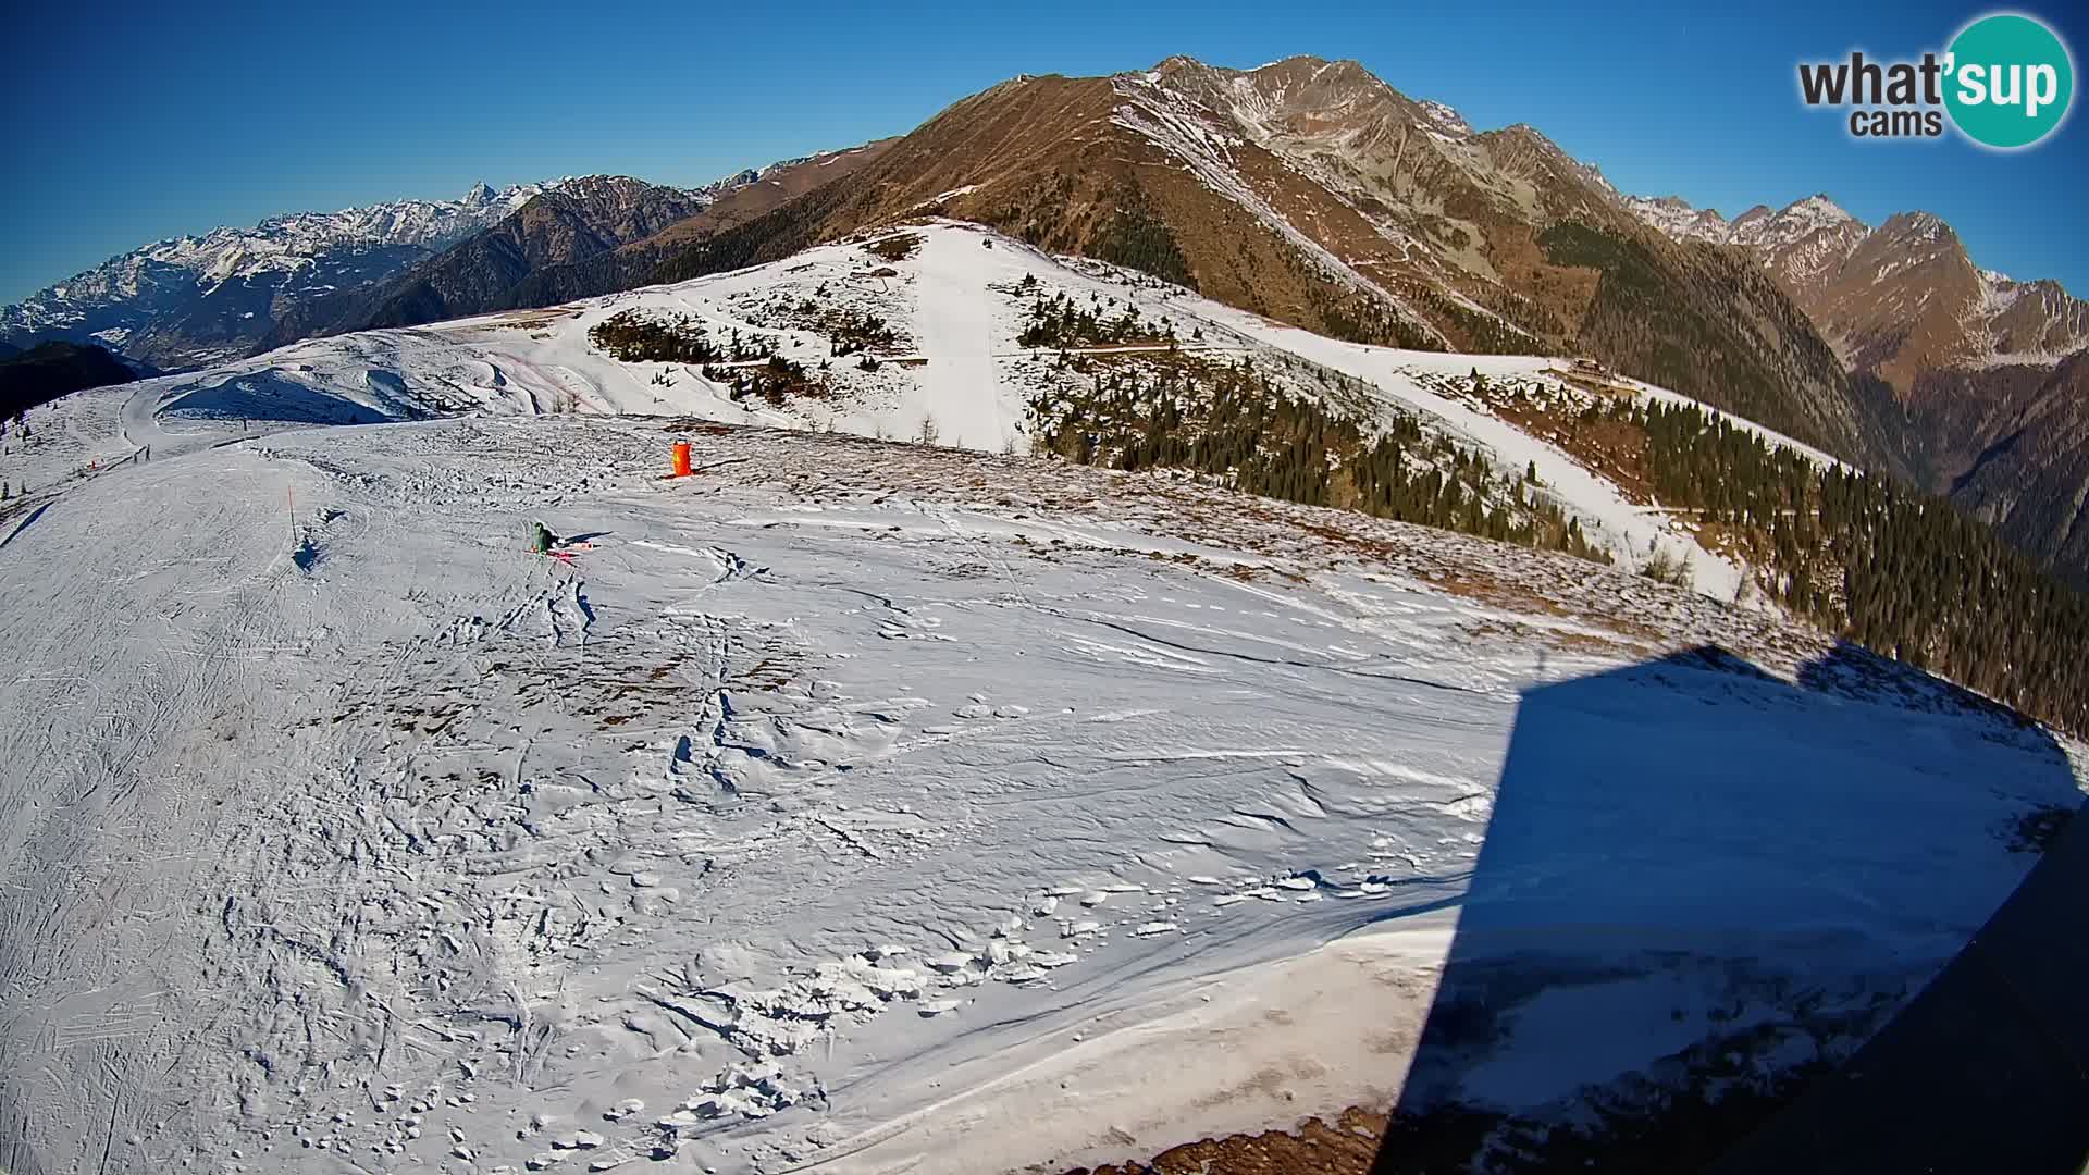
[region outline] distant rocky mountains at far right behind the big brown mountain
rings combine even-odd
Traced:
[[[1876,381],[1895,468],[2089,581],[2089,303],[1974,266],[1943,220],[1868,226],[1828,197],[1723,220],[1629,201],[1677,240],[1738,247]]]

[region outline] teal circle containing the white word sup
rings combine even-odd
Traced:
[[[2003,151],[2053,134],[2074,100],[2068,46],[2033,17],[1980,17],[1951,40],[1945,109],[1966,138]]]

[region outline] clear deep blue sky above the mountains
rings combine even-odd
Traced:
[[[1358,59],[1475,128],[1527,121],[1640,194],[1734,215],[1826,190],[1949,220],[1974,259],[2089,295],[2085,123],[1999,155],[1855,142],[1794,65],[1914,56],[1951,4],[31,4],[6,21],[0,301],[146,240],[566,174],[698,184],[900,134],[1013,73],[1187,52]],[[2018,8],[2089,56],[2072,6]]]

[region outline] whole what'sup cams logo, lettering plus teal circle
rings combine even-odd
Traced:
[[[1855,138],[1937,138],[1949,117],[1972,142],[2014,151],[2066,121],[2074,56],[2043,21],[1997,13],[1922,61],[1853,52],[1849,61],[1801,63],[1799,96],[1809,107],[1847,107]]]

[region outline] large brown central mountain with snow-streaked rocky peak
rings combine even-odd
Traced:
[[[1347,61],[1235,71],[1178,56],[1116,77],[1017,77],[938,113],[848,190],[706,238],[654,276],[923,213],[1341,339],[1590,349],[1842,456],[1884,454],[1834,353],[1774,282],[1646,228],[1540,132],[1475,134]]]

